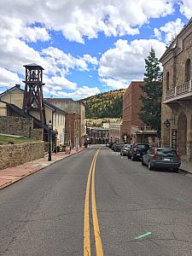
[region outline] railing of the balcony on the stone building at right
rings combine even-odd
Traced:
[[[174,100],[177,97],[182,98],[184,96],[188,96],[189,93],[192,93],[192,82],[189,80],[188,82],[175,86],[174,88],[170,90],[165,91],[165,102],[169,100]],[[170,101],[169,101],[170,102]]]

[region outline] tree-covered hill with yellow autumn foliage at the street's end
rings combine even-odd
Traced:
[[[122,117],[123,94],[125,89],[110,90],[85,98],[85,118],[120,118]]]

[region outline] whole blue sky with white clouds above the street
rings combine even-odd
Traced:
[[[44,67],[44,96],[80,99],[143,79],[192,16],[192,0],[1,0],[0,92]]]

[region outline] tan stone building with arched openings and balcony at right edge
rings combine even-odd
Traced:
[[[161,143],[192,160],[192,19],[166,49],[163,65]]]

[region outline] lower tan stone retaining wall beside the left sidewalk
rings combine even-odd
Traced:
[[[44,157],[44,142],[0,145],[0,169]]]

